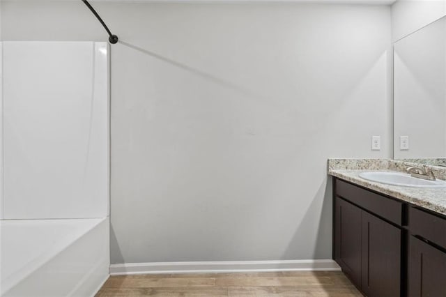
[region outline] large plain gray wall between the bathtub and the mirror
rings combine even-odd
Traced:
[[[122,41],[112,263],[329,259],[327,158],[391,155],[390,7],[95,6]],[[5,40],[105,39],[76,2],[2,17]]]

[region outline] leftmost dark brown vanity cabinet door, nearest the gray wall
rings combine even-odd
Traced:
[[[334,260],[353,284],[360,287],[362,210],[339,197],[334,204]]]

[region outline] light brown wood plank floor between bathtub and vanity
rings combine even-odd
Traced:
[[[96,297],[357,297],[339,271],[193,273],[109,277]]]

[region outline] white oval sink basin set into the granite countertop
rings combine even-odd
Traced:
[[[367,181],[386,183],[387,185],[401,185],[413,188],[446,188],[446,181],[428,181],[402,172],[362,172],[359,176],[367,179]]]

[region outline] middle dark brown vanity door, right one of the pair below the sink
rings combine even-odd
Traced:
[[[400,296],[401,229],[362,213],[362,291],[367,296]]]

